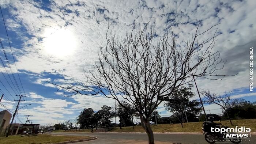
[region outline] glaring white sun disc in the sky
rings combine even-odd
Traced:
[[[73,54],[76,49],[72,31],[60,27],[46,29],[43,42],[45,52],[59,58]]]

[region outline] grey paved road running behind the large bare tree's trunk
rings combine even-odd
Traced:
[[[146,133],[52,133],[74,136],[94,136],[97,140],[84,141],[74,144],[146,144]],[[182,144],[207,144],[203,134],[154,134],[157,144],[182,143]],[[228,144],[216,143],[216,144]],[[256,135],[251,136],[250,142],[242,141],[241,144],[256,144]]]

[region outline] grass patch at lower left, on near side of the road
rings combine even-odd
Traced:
[[[0,137],[0,144],[52,144],[64,141],[90,139],[89,136],[53,136],[49,134],[38,134],[37,136],[9,136]]]

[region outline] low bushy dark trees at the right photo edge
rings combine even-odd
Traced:
[[[226,109],[231,119],[256,118],[256,102],[245,101],[245,99],[234,99],[227,105]],[[223,113],[223,120],[227,120],[227,114]]]

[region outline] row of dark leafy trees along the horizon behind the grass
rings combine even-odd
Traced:
[[[207,121],[205,115],[202,114],[202,105],[198,100],[190,100],[195,96],[192,91],[193,85],[188,87],[182,86],[173,91],[172,95],[164,99],[165,109],[170,111],[170,117],[161,117],[155,110],[149,117],[149,120],[158,124],[177,124],[184,122]],[[238,120],[256,118],[256,102],[245,101],[244,99],[231,99],[230,95],[217,96],[210,95],[214,101],[226,102],[225,110],[222,115],[207,114],[206,117],[213,116],[218,120]],[[205,102],[206,100],[203,99]],[[209,103],[209,101],[207,101]],[[229,117],[228,117],[228,115]],[[120,124],[113,124],[110,120],[113,117],[119,117]],[[134,106],[121,101],[115,108],[102,106],[101,110],[95,112],[93,109],[83,109],[77,119],[80,128],[97,128],[112,126],[134,126],[140,125],[140,117]]]

